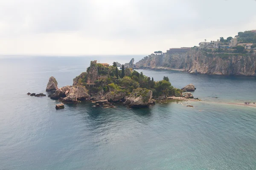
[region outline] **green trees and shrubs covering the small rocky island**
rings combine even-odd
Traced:
[[[95,70],[95,72],[92,73],[91,70]],[[90,67],[87,68],[87,72],[76,77],[74,81],[77,82],[76,85],[86,86],[93,94],[104,90],[105,93],[112,91],[113,93],[122,92],[129,95],[136,88],[146,88],[152,91],[153,98],[182,96],[182,91],[173,87],[168,77],[163,77],[163,80],[155,82],[153,77],[147,77],[143,72],[139,73],[132,68],[125,68],[124,65],[119,70],[116,62],[107,67],[92,61]]]

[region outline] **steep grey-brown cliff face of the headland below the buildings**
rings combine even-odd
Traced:
[[[256,76],[256,54],[207,53],[192,49],[183,54],[151,54],[135,64],[142,69],[181,69],[189,73]]]

